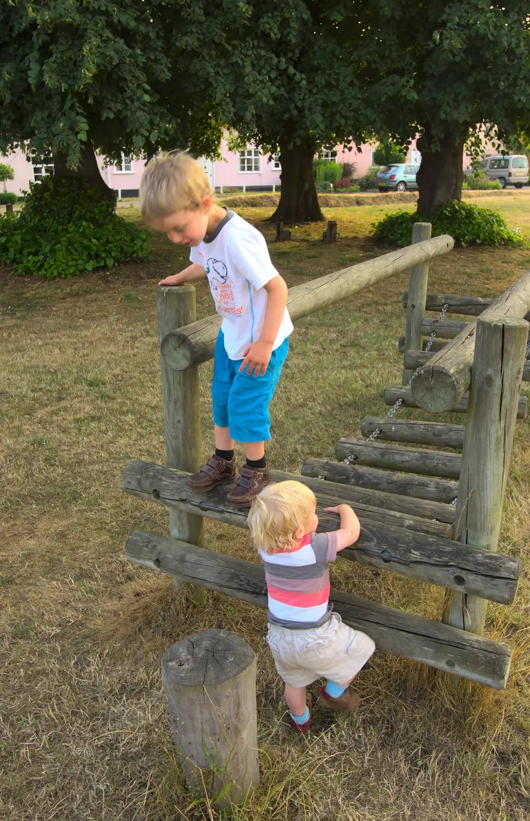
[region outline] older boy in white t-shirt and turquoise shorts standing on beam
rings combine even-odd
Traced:
[[[265,441],[271,438],[268,405],[293,329],[286,283],[272,265],[263,235],[215,202],[206,173],[190,154],[162,154],[148,163],[139,196],[144,220],[190,248],[191,265],[158,285],[208,277],[222,316],[212,378],[216,449],[186,485],[205,493],[231,482],[234,443],[241,442],[246,465],[227,501],[249,507],[271,481],[265,458]]]

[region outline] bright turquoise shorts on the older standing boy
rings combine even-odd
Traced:
[[[240,373],[243,360],[231,360],[225,351],[225,336],[219,330],[213,355],[213,422],[228,428],[236,442],[263,442],[271,438],[268,405],[280,378],[289,350],[286,338],[275,351],[263,376]]]

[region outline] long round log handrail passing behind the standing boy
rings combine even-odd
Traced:
[[[383,282],[395,273],[427,259],[447,254],[455,245],[450,236],[436,236],[432,240],[407,245],[375,259],[342,268],[326,277],[319,277],[289,289],[287,308],[290,318],[295,321],[314,311],[327,308],[335,302],[363,291],[364,288]],[[176,328],[162,339],[161,351],[164,361],[171,368],[185,370],[212,359],[217,333],[221,327],[221,317],[213,314],[199,322]]]

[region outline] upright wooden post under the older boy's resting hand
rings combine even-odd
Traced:
[[[158,342],[175,328],[182,328],[197,319],[195,289],[190,283],[178,287],[159,286],[157,289]],[[166,465],[178,470],[195,473],[201,464],[200,438],[200,394],[199,367],[194,365],[184,371],[177,371],[167,365],[160,354],[162,374],[162,402],[164,413],[164,435],[166,439]],[[203,516],[194,516],[182,511],[169,511],[170,533],[173,539],[189,544],[203,542]],[[174,577],[176,591],[181,580]],[[200,603],[200,588],[195,589],[194,598]]]

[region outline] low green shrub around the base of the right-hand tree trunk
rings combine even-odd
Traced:
[[[528,245],[512,231],[504,217],[491,209],[452,200],[438,205],[428,218],[432,236],[450,234],[457,245]],[[410,245],[414,222],[425,222],[423,214],[400,211],[377,222],[373,235],[377,240]]]

